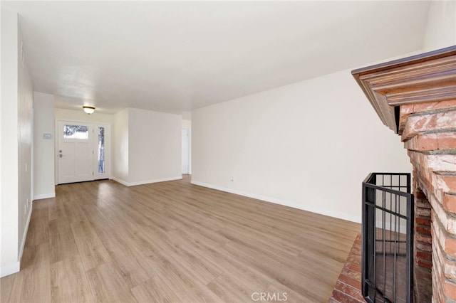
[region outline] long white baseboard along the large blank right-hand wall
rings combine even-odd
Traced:
[[[203,182],[199,182],[199,181],[192,181],[191,183],[198,185],[198,186],[204,186],[207,188],[217,189],[217,191],[226,191],[227,193],[235,193],[240,196],[246,196],[249,198],[254,198],[254,199],[271,202],[271,203],[275,203],[275,204],[279,204],[279,205],[283,205],[283,206],[289,206],[291,208],[300,209],[301,211],[310,211],[311,213],[318,213],[323,216],[329,216],[329,217],[333,217],[333,218],[348,220],[348,221],[355,222],[355,223],[361,223],[361,217],[353,216],[349,213],[336,213],[333,211],[327,211],[326,209],[304,206],[304,205],[301,205],[296,202],[286,201],[286,200],[282,200],[279,198],[271,198],[268,196],[259,195],[257,193],[248,193],[246,191],[238,191],[237,189],[226,188],[223,186],[207,184],[207,183],[203,183]]]

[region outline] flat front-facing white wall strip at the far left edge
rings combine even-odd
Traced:
[[[1,277],[19,271],[18,30],[1,7]]]

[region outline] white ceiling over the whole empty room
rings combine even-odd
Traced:
[[[1,1],[56,107],[192,109],[419,50],[428,1]],[[303,102],[305,102],[303,100]]]

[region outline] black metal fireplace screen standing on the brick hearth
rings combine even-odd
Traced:
[[[412,302],[410,174],[372,173],[363,182],[361,290],[367,302]]]

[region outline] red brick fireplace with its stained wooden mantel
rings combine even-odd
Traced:
[[[413,165],[415,302],[455,302],[456,46],[353,76]]]

